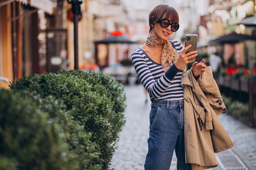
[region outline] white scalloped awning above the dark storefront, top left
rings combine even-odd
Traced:
[[[50,0],[30,0],[30,6],[41,9],[52,15],[55,3]]]

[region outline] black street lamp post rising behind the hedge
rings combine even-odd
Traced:
[[[74,69],[78,70],[78,18],[82,15],[80,5],[82,0],[67,0],[69,4],[72,4],[72,13],[74,20]]]

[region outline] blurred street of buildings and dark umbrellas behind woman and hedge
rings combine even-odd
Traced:
[[[127,83],[130,54],[144,44],[148,15],[158,4],[179,13],[180,28],[170,39],[184,45],[186,34],[198,34],[197,60],[204,58],[216,78],[254,73],[255,0],[0,0],[0,87],[72,69]]]

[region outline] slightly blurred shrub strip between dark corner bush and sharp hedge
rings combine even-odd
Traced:
[[[72,119],[72,112],[65,110],[62,99],[56,100],[53,96],[40,98],[34,91],[20,91],[21,97],[27,97],[36,103],[43,112],[49,114],[50,119],[63,129],[62,136],[68,146],[65,154],[74,170],[100,170],[101,166],[95,162],[99,159],[96,144],[90,141],[91,134],[85,133],[79,121]]]

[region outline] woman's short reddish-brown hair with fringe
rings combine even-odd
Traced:
[[[153,24],[159,20],[159,18],[167,18],[170,20],[170,22],[177,22],[179,23],[179,15],[177,11],[166,4],[160,4],[157,7],[155,7],[149,14],[148,20],[149,20],[149,33],[152,32]]]

